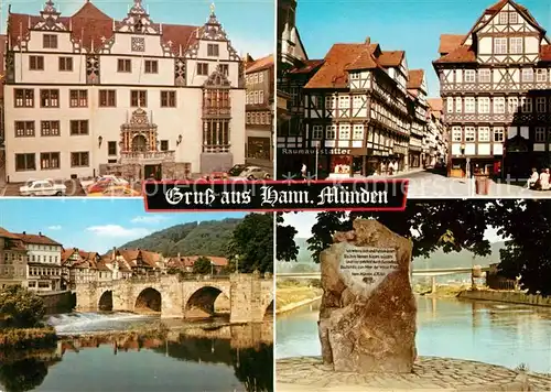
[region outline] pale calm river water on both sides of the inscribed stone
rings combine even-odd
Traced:
[[[321,355],[318,308],[278,315],[276,358]],[[551,308],[419,296],[417,348],[420,356],[551,373]]]

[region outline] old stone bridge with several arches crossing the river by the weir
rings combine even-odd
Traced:
[[[273,280],[259,274],[180,280],[176,275],[77,284],[77,311],[160,313],[161,317],[214,315],[219,295],[229,298],[231,324],[261,323],[273,309]]]

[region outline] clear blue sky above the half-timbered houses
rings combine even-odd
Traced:
[[[410,69],[425,70],[430,97],[440,96],[432,61],[440,35],[466,34],[493,0],[298,0],[296,26],[309,58],[323,58],[334,43],[370,36],[383,51],[406,51]],[[519,0],[551,31],[550,0]],[[549,36],[549,35],[548,35]]]

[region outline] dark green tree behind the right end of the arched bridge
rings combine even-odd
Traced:
[[[249,214],[237,225],[228,244],[228,270],[273,272],[273,214]]]

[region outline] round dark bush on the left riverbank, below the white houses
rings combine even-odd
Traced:
[[[12,328],[33,328],[42,325],[46,314],[44,301],[19,285],[0,288],[0,322]]]

